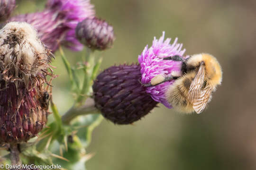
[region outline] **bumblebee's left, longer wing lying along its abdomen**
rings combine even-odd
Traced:
[[[204,65],[200,65],[200,68],[193,79],[188,92],[188,100],[192,103],[196,102],[201,96],[201,88],[204,82],[205,68]]]

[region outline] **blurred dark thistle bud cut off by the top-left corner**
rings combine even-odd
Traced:
[[[6,21],[15,8],[15,0],[0,0],[0,22]]]

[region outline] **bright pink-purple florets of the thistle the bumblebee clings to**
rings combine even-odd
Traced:
[[[143,84],[149,83],[151,79],[157,75],[164,74],[168,76],[173,72],[175,72],[175,74],[181,74],[181,61],[163,60],[162,58],[174,55],[183,57],[185,52],[185,49],[182,50],[183,44],[177,43],[177,38],[172,44],[170,44],[170,38],[167,38],[165,41],[164,38],[165,32],[163,32],[159,40],[154,37],[152,46],[150,48],[146,46],[141,55],[138,56],[141,67],[141,83]],[[165,92],[166,88],[173,83],[174,80],[160,85],[146,87],[146,92],[150,94],[156,102],[161,102],[167,108],[172,108],[165,98]]]

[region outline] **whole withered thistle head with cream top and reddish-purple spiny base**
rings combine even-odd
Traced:
[[[49,94],[44,86],[50,50],[27,23],[10,22],[0,30],[0,142],[20,143],[47,122]]]

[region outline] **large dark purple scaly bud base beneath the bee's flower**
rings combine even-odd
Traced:
[[[130,124],[152,110],[155,102],[141,86],[140,66],[119,65],[105,69],[92,86],[96,108],[117,124]]]

